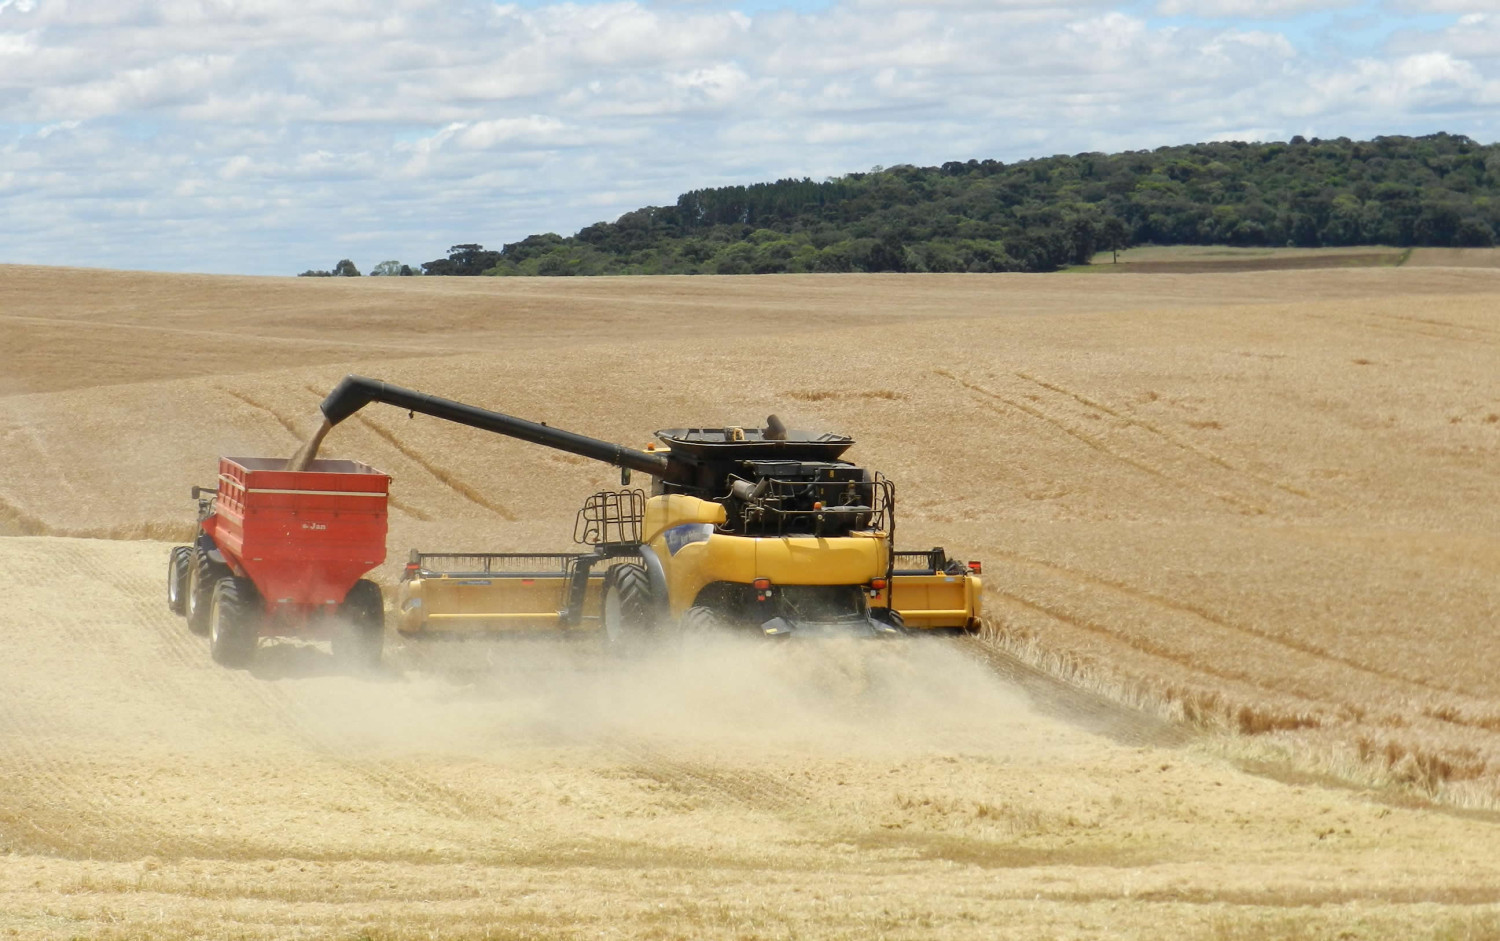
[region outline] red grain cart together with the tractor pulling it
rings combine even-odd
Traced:
[[[390,477],[357,461],[219,458],[219,486],[194,488],[198,536],[172,548],[166,603],[208,635],[213,659],[243,666],[262,636],[332,638],[350,665],[380,662],[380,585]]]

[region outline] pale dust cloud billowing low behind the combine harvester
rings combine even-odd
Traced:
[[[872,756],[1010,750],[1050,725],[933,638],[716,638],[630,656],[588,641],[426,641],[387,662],[384,677],[322,684],[338,698],[314,710],[322,734],[380,750],[632,741]]]

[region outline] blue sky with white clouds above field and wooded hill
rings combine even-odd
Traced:
[[[1500,140],[1500,0],[0,0],[0,264],[368,272],[705,186],[1437,131]]]

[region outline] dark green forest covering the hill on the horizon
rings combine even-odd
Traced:
[[[1130,245],[1491,246],[1500,144],[1215,143],[696,189],[574,236],[456,245],[428,275],[1052,272]]]

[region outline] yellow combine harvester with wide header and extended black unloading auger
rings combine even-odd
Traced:
[[[658,431],[634,450],[412,392],[345,377],[322,401],[327,426],[369,402],[544,444],[650,474],[596,494],[567,554],[412,552],[398,593],[406,635],[603,630],[628,644],[663,632],[894,636],[974,630],[980,564],[942,549],[894,552],[896,491],[842,461],[854,440],[765,428]]]

